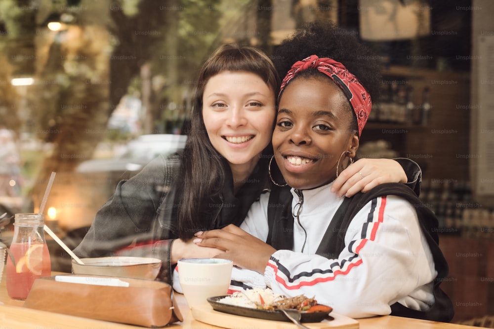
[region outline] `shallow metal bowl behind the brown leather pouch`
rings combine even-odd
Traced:
[[[72,259],[74,274],[105,275],[121,278],[155,280],[162,265],[161,259],[147,257],[81,258],[84,265]]]

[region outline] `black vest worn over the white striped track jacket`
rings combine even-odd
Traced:
[[[449,322],[454,310],[451,299],[439,288],[448,275],[448,263],[439,249],[438,220],[412,189],[400,183],[386,183],[374,187],[367,193],[358,193],[351,198],[345,198],[336,211],[328,229],[319,245],[316,254],[337,258],[345,247],[344,237],[351,220],[372,199],[384,195],[396,195],[412,204],[415,208],[420,228],[425,235],[437,271],[434,279],[435,303],[427,311],[416,311],[399,303],[391,305],[391,315]],[[269,196],[268,223],[269,233],[267,243],[277,250],[293,249],[293,216],[291,214],[292,195],[288,188],[273,188]],[[283,205],[283,206],[281,206]]]

